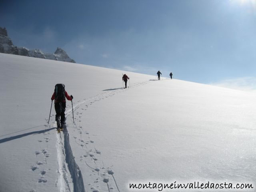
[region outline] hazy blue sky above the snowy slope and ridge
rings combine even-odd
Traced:
[[[256,0],[2,0],[0,18],[15,45],[82,64],[206,84],[255,76]]]

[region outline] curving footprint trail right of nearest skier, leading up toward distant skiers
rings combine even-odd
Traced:
[[[148,84],[149,82],[150,81],[144,81],[133,84],[131,88]],[[106,185],[108,192],[119,192],[119,188],[114,178],[114,171],[112,170],[113,166],[109,166],[107,168],[105,167],[101,151],[95,148],[94,141],[90,138],[90,134],[81,126],[82,114],[83,112],[86,112],[88,107],[94,102],[104,100],[123,91],[124,90],[122,89],[111,90],[102,92],[88,99],[84,98],[84,101],[78,101],[76,107],[74,108],[76,113],[74,113],[75,123],[73,124],[73,131],[77,132],[77,135],[80,135],[80,137],[74,136],[74,140],[77,146],[82,148],[83,153],[80,154],[80,161],[84,162],[84,166],[86,166],[86,172],[83,174],[86,174],[87,176],[89,173],[88,176],[94,180],[93,183],[84,183],[87,185],[85,188],[89,187],[92,192],[102,191],[103,189],[101,189],[100,186],[102,186],[103,183]]]

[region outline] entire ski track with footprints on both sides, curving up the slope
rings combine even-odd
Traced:
[[[73,102],[73,111],[75,112],[78,110],[81,106],[84,106],[82,110],[87,110],[89,106],[91,106],[94,102],[98,102],[100,100],[104,100],[108,97],[114,96],[115,94],[118,94],[123,91],[128,91],[129,89],[136,88],[138,86],[142,86],[144,84],[151,83],[150,80],[146,80],[143,82],[138,82],[132,84],[129,88],[126,89],[116,89],[116,90],[108,90],[104,91],[100,94],[97,94],[96,96],[92,96],[89,98],[84,98],[84,101],[77,103]],[[70,107],[70,105],[67,105],[67,107]],[[66,118],[69,115],[72,115],[72,108],[66,109],[65,115]],[[104,183],[104,186],[106,186],[106,191],[118,191],[120,192],[118,188],[118,184],[114,178],[114,171],[111,169],[112,166],[105,168],[104,162],[103,162],[103,156],[100,152],[100,150],[96,150],[94,146],[94,141],[90,140],[89,133],[84,131],[82,126],[79,125],[77,127],[77,123],[79,124],[81,122],[83,112],[76,112],[74,113],[74,121],[73,124],[74,130],[77,131],[78,135],[80,134],[79,142],[76,140],[77,138],[74,136],[75,142],[78,144],[78,146],[82,147],[84,154],[80,155],[80,161],[84,161],[84,164],[88,168],[88,172],[92,172],[90,174],[90,177],[93,177],[94,184],[88,184],[90,186],[90,190],[92,192],[99,192],[97,188],[99,188],[99,179],[100,182],[102,182],[102,186]],[[51,115],[51,117],[54,115]],[[72,118],[72,117],[71,117]],[[52,120],[53,124],[48,125],[48,119],[46,120],[45,129],[46,127],[56,127],[55,119]],[[73,121],[73,119],[72,119]],[[66,124],[66,126],[68,126]],[[75,158],[72,153],[72,149],[69,142],[69,133],[68,130],[64,127],[63,134],[56,132],[56,150],[57,150],[57,156],[58,156],[58,174],[59,177],[56,178],[56,187],[59,188],[60,192],[85,192],[84,183],[83,183],[83,177],[82,172],[79,168],[79,166],[76,164]],[[83,134],[84,133],[84,134]],[[48,134],[50,132],[44,132],[44,139],[38,140],[38,142],[45,142],[46,147],[42,150],[38,150],[35,152],[36,157],[40,156],[40,161],[36,162],[36,165],[31,166],[31,170],[34,171],[36,169],[41,170],[41,177],[38,178],[38,182],[47,182],[46,179],[46,171],[44,168],[41,168],[41,165],[47,164],[47,158],[50,156],[50,154],[47,153],[48,148],[48,142],[49,137]],[[44,156],[42,156],[44,154]],[[44,159],[43,159],[44,158]],[[95,174],[94,172],[97,172]],[[115,190],[114,190],[115,189]]]

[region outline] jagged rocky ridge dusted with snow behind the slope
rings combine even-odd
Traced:
[[[52,54],[52,53],[44,53],[40,49],[27,49],[25,47],[14,46],[11,38],[8,37],[6,28],[1,28],[1,27],[0,27],[0,53],[76,63],[61,48],[57,48],[54,54]]]

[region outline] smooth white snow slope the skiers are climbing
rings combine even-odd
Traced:
[[[256,187],[255,94],[11,54],[0,54],[0,66],[0,192],[126,192],[131,182],[174,181]],[[57,83],[74,96],[75,124],[67,100],[60,134],[54,105],[48,124]]]

